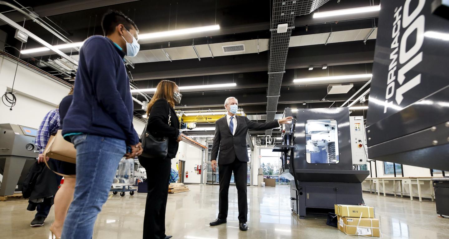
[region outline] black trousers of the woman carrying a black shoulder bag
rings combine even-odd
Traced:
[[[148,184],[143,239],[163,239],[166,237],[165,208],[167,207],[172,159],[150,159],[139,156],[139,162],[146,169]]]

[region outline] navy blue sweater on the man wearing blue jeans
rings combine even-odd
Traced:
[[[124,56],[106,37],[92,36],[84,42],[63,135],[84,133],[139,143]]]

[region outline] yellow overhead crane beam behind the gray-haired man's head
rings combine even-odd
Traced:
[[[226,115],[224,110],[195,110],[195,111],[177,111],[180,122],[184,123],[211,123],[214,124],[218,119]],[[238,109],[237,115],[245,116],[242,109]]]

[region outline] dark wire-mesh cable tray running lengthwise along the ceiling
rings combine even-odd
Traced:
[[[290,44],[291,31],[295,28],[295,16],[312,13],[329,0],[274,0],[271,17],[270,57],[268,67],[267,122],[273,121],[281,92],[282,77]],[[277,32],[279,24],[288,24],[286,32]],[[266,130],[271,135],[273,130]]]

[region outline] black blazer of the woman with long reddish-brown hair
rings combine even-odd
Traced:
[[[172,116],[170,125],[168,125],[169,113]],[[168,104],[167,100],[159,99],[154,102],[146,126],[147,130],[152,132],[154,137],[168,137],[167,157],[176,157],[179,146],[179,143],[176,142],[176,138],[179,135],[179,120],[176,116],[175,109]]]

